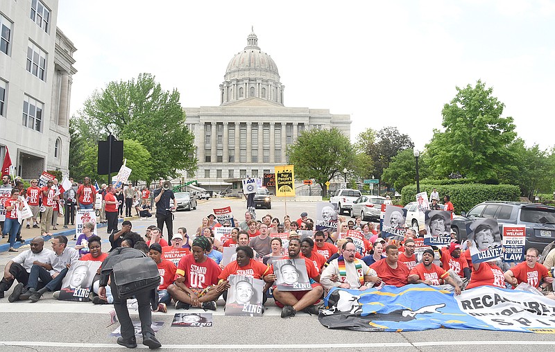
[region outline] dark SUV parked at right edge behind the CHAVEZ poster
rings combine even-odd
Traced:
[[[466,240],[466,223],[470,220],[495,218],[499,232],[503,224],[526,225],[526,249],[543,248],[555,240],[555,206],[524,202],[482,202],[468,213],[454,218],[451,228],[459,241]]]

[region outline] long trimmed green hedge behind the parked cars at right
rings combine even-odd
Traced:
[[[436,188],[440,202],[443,196],[449,195],[455,212],[469,211],[473,206],[486,200],[506,200],[517,202],[520,188],[511,184],[420,184],[420,191],[427,191],[428,195]],[[416,202],[416,186],[404,186],[401,191],[402,204]]]

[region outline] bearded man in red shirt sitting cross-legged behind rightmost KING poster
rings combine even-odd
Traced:
[[[316,282],[311,284],[312,290],[309,291],[280,291],[278,288],[274,288],[273,297],[275,303],[283,307],[281,317],[294,317],[299,310],[311,315],[318,315],[318,307],[314,306],[314,303],[322,298],[324,292],[322,285],[319,283],[320,274],[312,261],[300,256],[300,240],[298,238],[291,238],[289,240],[288,252],[289,256],[284,256],[284,259],[305,259],[307,274],[309,278]]]

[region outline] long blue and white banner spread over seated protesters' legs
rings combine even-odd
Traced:
[[[434,328],[555,333],[555,301],[520,290],[481,286],[459,296],[425,284],[380,290],[333,288],[318,320],[356,331]]]

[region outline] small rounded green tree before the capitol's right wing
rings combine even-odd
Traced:
[[[355,148],[336,128],[312,129],[302,132],[295,143],[287,147],[289,162],[295,166],[298,179],[314,179],[327,195],[325,183],[343,176],[343,168],[353,169]]]

